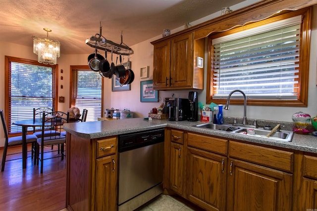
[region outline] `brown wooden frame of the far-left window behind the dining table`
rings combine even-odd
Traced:
[[[4,75],[4,78],[5,78],[5,84],[4,84],[4,92],[5,92],[5,121],[7,123],[7,127],[10,127],[12,125],[12,122],[11,122],[11,118],[9,116],[10,114],[10,110],[11,110],[11,107],[9,105],[9,75],[10,75],[10,65],[11,65],[11,62],[16,62],[16,63],[23,63],[23,64],[27,64],[27,65],[35,65],[35,66],[43,66],[43,67],[50,67],[52,68],[52,71],[53,71],[53,93],[54,93],[54,96],[53,96],[53,109],[54,111],[57,111],[58,110],[58,105],[57,105],[57,96],[58,96],[58,64],[55,64],[55,65],[46,65],[46,64],[43,64],[43,63],[39,63],[38,61],[36,60],[31,60],[31,59],[24,59],[24,58],[18,58],[18,57],[12,57],[12,56],[4,56],[4,71],[5,71],[5,75]],[[16,136],[16,135],[20,135],[21,132],[14,132],[14,133],[11,133],[10,132],[10,128],[8,128],[8,133],[9,133],[9,136]]]

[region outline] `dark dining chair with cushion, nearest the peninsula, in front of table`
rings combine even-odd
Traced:
[[[43,173],[43,163],[44,160],[52,159],[61,157],[61,160],[64,159],[65,153],[64,153],[64,144],[66,143],[66,136],[61,135],[61,131],[63,130],[63,124],[69,122],[69,113],[64,113],[60,111],[54,111],[54,112],[44,112],[42,116],[42,136],[41,138],[37,139],[36,142],[36,159],[34,160],[34,163],[36,162],[37,165],[39,165],[39,161],[41,161],[41,173]],[[46,127],[52,127],[54,129],[46,130]],[[53,131],[55,130],[55,131]],[[47,136],[44,135],[46,131],[52,131],[51,134],[48,134]],[[44,158],[44,147],[45,146],[51,146],[51,145],[60,145],[60,154],[50,157],[50,158]],[[41,152],[40,152],[41,148]]]

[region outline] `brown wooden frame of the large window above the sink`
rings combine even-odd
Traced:
[[[248,24],[241,24],[233,29],[228,29],[227,31],[221,31],[216,33],[211,33],[208,36],[208,68],[207,68],[207,91],[206,91],[206,103],[217,103],[225,104],[226,99],[213,99],[212,98],[212,66],[211,66],[211,56],[213,52],[212,39],[225,36],[228,34],[233,34],[240,32],[242,30],[254,28],[261,26],[262,24],[272,23],[275,21],[287,19],[290,17],[302,15],[302,34],[300,39],[300,61],[299,61],[299,96],[297,100],[280,100],[280,99],[248,99],[248,105],[259,105],[259,106],[296,106],[296,107],[307,107],[308,105],[308,77],[309,77],[309,55],[310,55],[310,30],[312,22],[312,7],[307,7],[304,9],[296,11],[284,11],[275,14],[267,19],[260,20],[257,22],[252,22]],[[235,88],[234,88],[235,89]],[[237,87],[236,89],[239,89]],[[240,98],[240,96],[237,96]],[[230,103],[233,105],[242,105],[243,98],[232,99]]]

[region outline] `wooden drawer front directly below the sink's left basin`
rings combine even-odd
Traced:
[[[188,133],[188,146],[227,155],[228,141],[220,138]]]

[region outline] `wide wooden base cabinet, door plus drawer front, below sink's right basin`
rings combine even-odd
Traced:
[[[269,167],[291,171],[292,152],[230,141],[228,154],[227,211],[291,211],[292,174]]]

